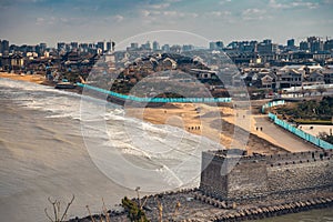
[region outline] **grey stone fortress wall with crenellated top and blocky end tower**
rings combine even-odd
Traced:
[[[209,151],[202,153],[200,190],[228,203],[302,201],[333,193],[332,169],[333,150],[252,157]]]

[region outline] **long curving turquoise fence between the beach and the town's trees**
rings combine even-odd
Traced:
[[[211,102],[231,102],[231,98],[139,98],[134,95],[127,95],[127,94],[121,94],[118,92],[104,90],[101,88],[92,87],[89,84],[82,84],[82,83],[77,83],[78,87],[82,87],[89,90],[94,90],[101,93],[109,94],[111,97],[115,97],[122,100],[131,100],[135,102],[161,102],[161,103],[168,103],[168,102],[180,102],[180,103],[186,103],[186,102],[192,102],[192,103],[211,103]]]

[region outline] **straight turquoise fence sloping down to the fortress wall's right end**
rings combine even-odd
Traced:
[[[312,144],[315,144],[316,147],[319,148],[322,148],[322,149],[333,149],[333,144],[326,142],[326,141],[323,141],[312,134],[309,134],[291,124],[289,124],[287,122],[283,121],[283,120],[280,120],[275,114],[273,113],[269,113],[269,118],[271,120],[274,121],[275,124],[282,127],[283,129],[290,131],[291,133],[302,138],[303,140],[307,141],[307,142],[311,142]]]

